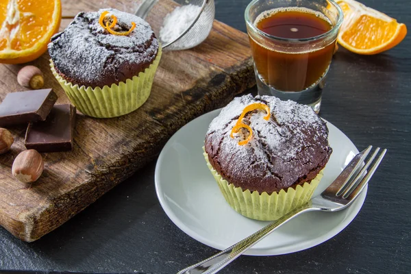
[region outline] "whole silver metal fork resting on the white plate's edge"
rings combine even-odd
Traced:
[[[257,242],[271,234],[271,232],[278,227],[284,225],[284,223],[293,219],[295,216],[309,211],[321,210],[334,212],[347,208],[360,195],[360,192],[364,189],[377,170],[379,163],[382,161],[382,158],[384,158],[387,151],[384,149],[379,153],[379,147],[377,147],[366,164],[364,164],[364,160],[366,156],[369,155],[371,148],[372,146],[369,146],[364,149],[364,151],[358,153],[345,167],[343,172],[338,175],[334,182],[332,182],[332,184],[318,197],[315,197],[305,205],[288,212],[288,214],[282,216],[282,218],[273,221],[273,223],[263,227],[244,240],[237,242],[235,245],[232,245],[206,260],[188,266],[177,274],[217,273],[250,247],[256,245]],[[377,160],[374,161],[378,153]],[[366,169],[369,168],[373,161],[374,163],[371,166],[371,169],[367,172]]]

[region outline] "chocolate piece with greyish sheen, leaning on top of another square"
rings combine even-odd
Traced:
[[[51,88],[9,93],[0,105],[0,127],[45,121],[55,101]]]

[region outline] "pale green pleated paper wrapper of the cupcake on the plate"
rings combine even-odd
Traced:
[[[319,175],[312,179],[310,183],[306,182],[302,186],[298,185],[295,189],[290,187],[287,190],[273,192],[271,195],[267,192],[260,194],[258,191],[243,191],[242,188],[236,188],[234,184],[229,184],[223,179],[210,164],[208,154],[206,152],[203,154],[208,169],[210,169],[217,184],[219,184],[219,188],[229,206],[243,216],[260,221],[277,220],[291,210],[310,201],[312,193],[323,177],[323,171],[320,171]]]

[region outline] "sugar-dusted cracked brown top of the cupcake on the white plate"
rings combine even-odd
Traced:
[[[247,138],[247,130],[240,130],[235,138],[230,133],[251,103],[268,105],[271,118],[263,119],[264,110],[249,112],[242,122],[251,127],[253,137],[247,145],[238,145]],[[229,183],[271,194],[314,179],[332,153],[327,139],[327,125],[309,106],[245,95],[235,98],[210,123],[205,147],[210,164]]]

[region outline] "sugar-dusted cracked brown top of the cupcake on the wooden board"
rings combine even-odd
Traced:
[[[113,27],[126,36],[110,34],[99,24],[102,12],[117,18]],[[79,86],[119,84],[144,71],[158,53],[158,40],[149,23],[142,18],[114,9],[80,12],[64,32],[55,34],[49,54],[56,71],[68,82]]]

